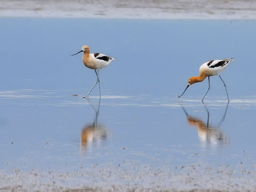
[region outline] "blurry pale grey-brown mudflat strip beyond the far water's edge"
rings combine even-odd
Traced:
[[[106,19],[256,19],[256,1],[1,1],[0,17]]]

